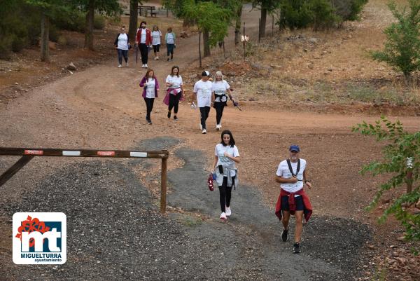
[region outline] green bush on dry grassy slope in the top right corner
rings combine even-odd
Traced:
[[[388,4],[397,22],[386,27],[386,43],[381,51],[371,51],[373,60],[386,62],[401,71],[408,80],[413,71],[420,69],[420,1],[409,0],[409,11],[398,11],[395,2]]]

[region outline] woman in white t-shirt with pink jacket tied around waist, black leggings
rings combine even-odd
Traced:
[[[181,97],[184,95],[182,77],[179,75],[179,67],[174,65],[171,69],[171,74],[167,76],[166,85],[168,87],[169,104],[168,104],[168,118],[171,118],[172,109],[174,109],[174,120],[178,121],[178,107]]]

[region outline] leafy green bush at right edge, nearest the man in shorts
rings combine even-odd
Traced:
[[[377,206],[381,196],[391,189],[400,189],[400,196],[394,198],[384,210],[379,222],[386,221],[390,214],[405,227],[407,240],[420,240],[420,214],[410,212],[409,207],[420,200],[420,132],[407,132],[400,121],[392,123],[384,116],[374,124],[363,122],[353,127],[353,132],[365,136],[375,136],[377,142],[386,142],[382,149],[384,158],[363,166],[362,174],[367,172],[374,176],[387,174],[390,178],[379,186],[367,210]],[[406,185],[406,192],[403,186]]]

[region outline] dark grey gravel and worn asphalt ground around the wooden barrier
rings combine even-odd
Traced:
[[[169,148],[178,139],[148,139],[138,148]],[[241,186],[233,194],[232,219],[218,221],[218,192],[206,189],[200,151],[181,148],[183,167],[169,172],[169,205],[158,213],[134,169],[139,160],[88,159],[57,170],[23,200],[0,200],[1,228],[14,212],[64,212],[67,262],[63,266],[15,266],[11,247],[0,251],[0,280],[353,280],[365,256],[369,231],[353,221],[314,216],[304,228],[302,254],[279,242],[279,223],[259,194]],[[186,179],[190,184],[186,184]],[[28,199],[26,199],[28,198]],[[30,200],[29,200],[30,199]],[[172,209],[174,210],[174,209]],[[8,222],[9,221],[9,222]],[[328,242],[321,237],[327,236]],[[10,236],[11,233],[8,233]],[[342,240],[342,237],[346,237]]]

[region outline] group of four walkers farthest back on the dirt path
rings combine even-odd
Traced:
[[[153,60],[160,60],[160,45],[162,41],[162,32],[157,25],[153,25],[153,29],[146,27],[146,22],[140,23],[139,29],[137,29],[135,38],[135,48],[140,50],[141,55],[141,67],[148,68],[148,53],[153,49]],[[176,34],[172,31],[172,27],[167,28],[165,34],[165,45],[167,47],[167,61],[170,62],[174,59],[174,49]],[[121,27],[120,33],[117,34],[114,46],[118,53],[118,67],[123,67],[123,57],[125,60],[125,66],[128,67],[128,50],[132,49],[130,39],[125,33],[125,26]]]

